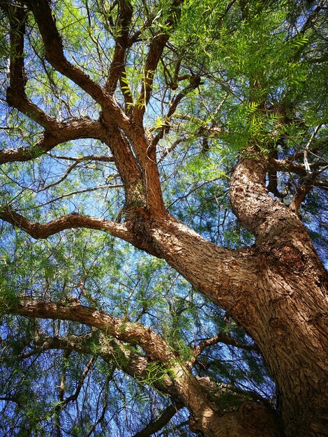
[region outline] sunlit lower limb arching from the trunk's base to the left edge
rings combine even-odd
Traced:
[[[262,403],[245,402],[238,411],[231,413],[225,413],[218,408],[211,399],[207,387],[193,376],[191,370],[181,362],[181,357],[174,353],[161,337],[140,323],[126,322],[103,311],[73,302],[56,304],[21,297],[18,302],[12,302],[9,306],[6,306],[6,302],[0,302],[0,304],[1,309],[8,313],[36,318],[73,320],[96,327],[105,336],[113,336],[131,345],[140,345],[150,360],[163,363],[169,377],[167,381],[163,380],[167,392],[175,394],[178,400],[181,399],[193,415],[193,429],[201,430],[207,437],[278,436],[274,412]],[[64,341],[61,344],[59,341],[54,341],[52,346],[61,346],[68,350],[75,348],[71,341]],[[49,347],[51,348],[51,341]],[[83,346],[81,350],[85,350]],[[106,355],[110,351],[103,346],[101,353]],[[129,360],[132,358],[131,364],[135,364],[135,357],[128,358]],[[142,372],[143,369],[142,365]],[[131,371],[131,366],[126,366],[126,370]],[[170,380],[173,387],[170,387]]]

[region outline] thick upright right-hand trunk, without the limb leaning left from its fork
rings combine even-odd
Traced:
[[[231,185],[259,259],[255,323],[246,329],[278,385],[285,434],[327,436],[327,273],[296,214],[268,195],[265,170],[264,160],[244,159]]]

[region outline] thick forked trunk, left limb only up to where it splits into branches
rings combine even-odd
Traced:
[[[258,344],[278,386],[283,433],[327,436],[327,274],[299,218],[264,188],[266,170],[247,158],[232,177],[232,207],[256,237],[252,248],[219,248],[169,215],[143,221],[135,235]]]

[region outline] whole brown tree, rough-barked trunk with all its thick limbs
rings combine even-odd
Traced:
[[[36,147],[1,151],[0,163],[27,161],[67,140],[85,137],[103,140],[112,150],[124,183],[126,223],[68,214],[40,224],[9,209],[0,210],[0,218],[34,238],[47,238],[68,228],[104,230],[164,258],[197,290],[229,311],[253,337],[278,385],[285,436],[327,436],[327,274],[306,228],[295,214],[297,211],[268,195],[264,186],[267,159],[249,152],[241,158],[231,179],[232,209],[241,225],[255,235],[255,246],[232,251],[200,237],[165,211],[156,165],[156,140],[142,126],[154,71],[168,36],[157,34],[151,38],[140,98],[128,117],[130,113],[124,114],[112,97],[123,72],[123,66],[117,70],[118,63],[124,60],[124,51],[119,53],[118,47],[121,43],[126,50],[128,29],[122,32],[121,42],[117,41],[111,77],[107,89],[103,89],[66,59],[50,3],[47,0],[26,3],[38,24],[47,61],[94,98],[102,112],[99,121],[80,119],[60,124],[29,101],[24,91],[22,59],[26,13],[1,1],[0,5],[9,11],[11,26],[8,103],[43,126],[45,133]],[[180,3],[173,1],[172,9]],[[131,20],[127,5],[123,0],[120,2],[125,27]],[[173,17],[174,13],[167,19],[167,26],[173,23]],[[271,165],[277,168],[281,163],[271,159]],[[288,168],[299,175],[304,173],[297,164],[290,163]],[[66,307],[26,301],[12,312],[76,320],[96,326],[120,341],[140,344],[151,359],[170,365],[175,388],[193,413],[194,429],[201,429],[207,436],[274,436],[278,432],[274,416],[262,405],[246,404],[238,413],[223,415],[163,339],[142,325],[123,324],[81,305]]]

